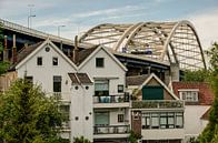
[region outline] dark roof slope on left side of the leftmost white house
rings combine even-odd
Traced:
[[[41,45],[43,41],[31,44],[29,47],[23,47],[16,55],[17,61],[10,67],[9,70],[14,70],[16,65],[18,65],[24,58],[27,58],[30,53],[32,53],[39,45]]]

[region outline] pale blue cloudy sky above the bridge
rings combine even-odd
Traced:
[[[218,41],[218,0],[0,0],[0,19],[28,27],[30,14],[31,28],[71,40],[100,23],[189,20],[204,49]]]

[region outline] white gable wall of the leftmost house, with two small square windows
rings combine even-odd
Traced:
[[[40,84],[46,92],[53,92],[53,75],[61,75],[62,92],[70,92],[66,80],[68,73],[76,70],[53,48],[50,47],[50,51],[46,52],[46,47],[17,70],[18,78],[23,78],[27,71],[27,75],[33,76],[33,83]],[[38,57],[42,57],[42,65],[37,65]],[[52,65],[52,57],[58,58],[58,65]]]

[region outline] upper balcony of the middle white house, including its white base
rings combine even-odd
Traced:
[[[93,108],[128,108],[130,99],[128,94],[93,96]]]

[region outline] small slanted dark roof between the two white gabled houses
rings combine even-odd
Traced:
[[[68,73],[73,84],[92,83],[87,73]]]

